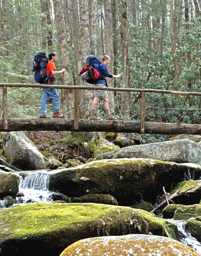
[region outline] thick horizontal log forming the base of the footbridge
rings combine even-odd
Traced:
[[[78,129],[74,119],[8,119],[5,130],[0,119],[0,131],[112,131],[141,133],[141,122],[130,121],[92,121],[78,120]],[[200,134],[201,125],[145,122],[146,134]]]

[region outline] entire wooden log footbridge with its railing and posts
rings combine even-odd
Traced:
[[[197,92],[178,92],[170,90],[46,85],[46,84],[8,84],[0,83],[3,87],[3,118],[0,119],[0,131],[111,131],[123,133],[146,134],[200,134],[201,125],[183,123],[145,122],[146,93],[168,93],[180,95],[201,96]],[[38,87],[74,90],[74,119],[18,119],[7,117],[7,87]],[[110,90],[141,93],[141,122],[136,121],[107,121],[78,119],[78,90]]]

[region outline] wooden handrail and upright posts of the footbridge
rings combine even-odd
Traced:
[[[155,89],[134,89],[134,88],[113,88],[113,87],[95,87],[95,86],[74,86],[74,85],[46,85],[46,84],[8,84],[0,83],[3,87],[3,126],[8,129],[7,117],[7,87],[31,87],[31,88],[56,88],[65,90],[74,90],[74,129],[78,130],[78,90],[109,90],[109,91],[124,91],[124,92],[138,92],[141,93],[141,133],[144,133],[145,127],[145,107],[146,107],[146,93],[167,93],[178,95],[195,95],[201,96],[197,92],[179,92],[171,90],[155,90]]]

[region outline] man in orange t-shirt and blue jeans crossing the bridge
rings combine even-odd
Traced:
[[[43,84],[55,84],[55,75],[59,75],[66,71],[63,68],[60,71],[55,71],[55,62],[57,61],[57,54],[55,52],[50,52],[48,55],[49,61],[46,67],[46,75],[49,76],[49,81]],[[57,89],[55,88],[43,88],[43,96],[41,98],[41,107],[40,107],[40,118],[50,118],[46,115],[46,104],[49,101],[49,98],[52,98],[52,110],[54,118],[63,118],[63,115],[59,113],[59,95]]]

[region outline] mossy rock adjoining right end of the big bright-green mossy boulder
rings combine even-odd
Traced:
[[[149,224],[149,231],[156,236],[166,236],[179,241],[177,226],[172,221],[163,218],[157,218],[153,213],[141,209],[135,209],[144,220]]]

